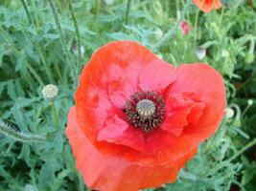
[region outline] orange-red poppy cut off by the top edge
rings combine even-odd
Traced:
[[[221,8],[221,0],[193,0],[201,11],[210,12]]]

